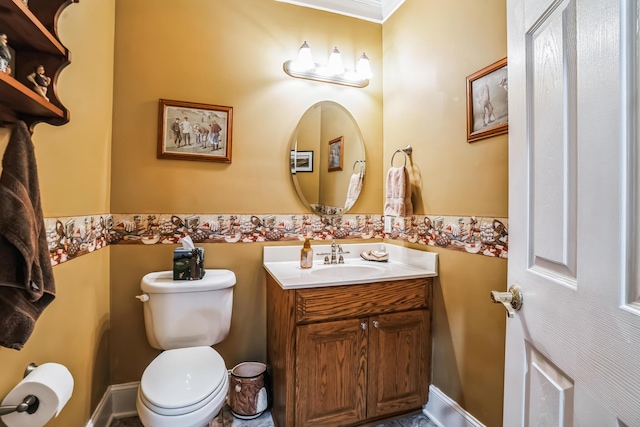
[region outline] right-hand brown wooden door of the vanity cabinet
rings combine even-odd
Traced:
[[[367,417],[421,408],[430,378],[429,311],[372,316],[369,325]]]

